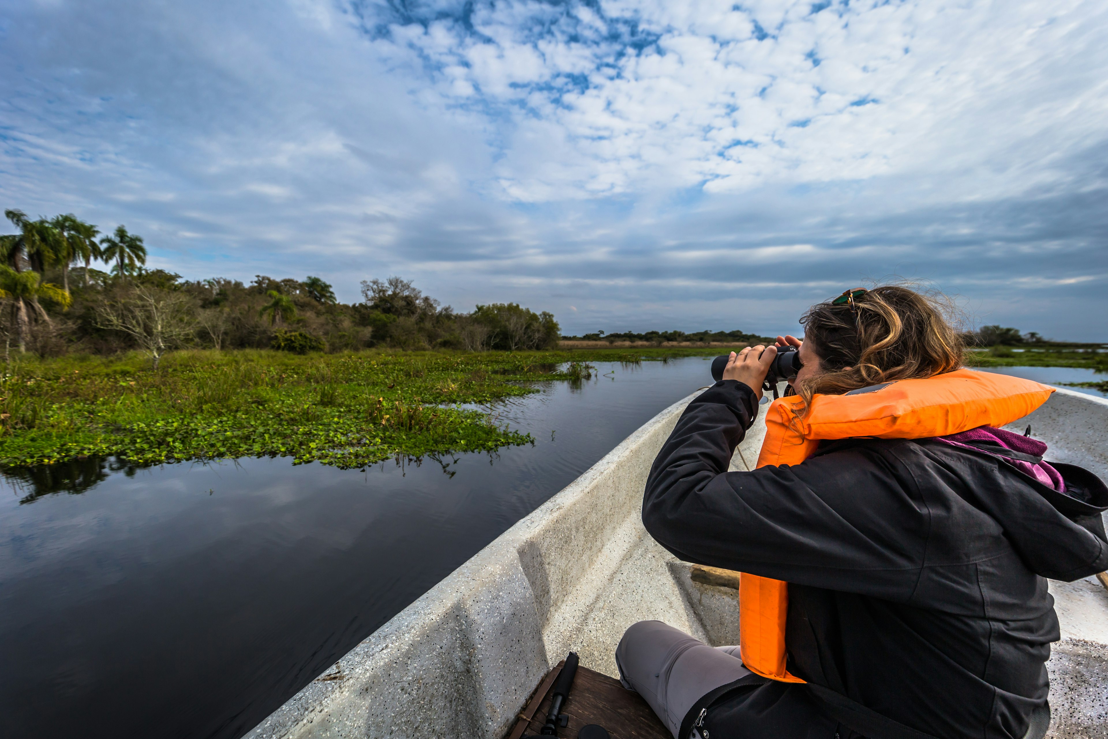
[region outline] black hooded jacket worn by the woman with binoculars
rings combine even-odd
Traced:
[[[787,581],[793,675],[934,737],[1023,737],[1059,638],[1046,578],[1108,569],[1104,483],[1055,463],[1063,494],[987,453],[900,439],[728,472],[757,412],[733,380],[688,406],[650,470],[650,535],[686,562]],[[704,727],[852,736],[783,682],[725,695]]]

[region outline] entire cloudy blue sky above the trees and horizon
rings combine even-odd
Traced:
[[[0,203],[565,333],[915,280],[1108,340],[1104,0],[0,0]]]

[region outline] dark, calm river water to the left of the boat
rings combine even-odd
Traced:
[[[654,414],[681,359],[501,408],[499,455],[341,471],[288,460],[7,476],[0,735],[226,737],[270,711]],[[456,461],[454,461],[456,459]]]

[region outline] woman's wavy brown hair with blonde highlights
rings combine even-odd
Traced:
[[[947,320],[953,312],[945,296],[897,285],[862,292],[853,305],[829,300],[812,306],[800,322],[823,371],[796,388],[804,399],[799,414],[817,393],[842,394],[958,369],[964,346]]]

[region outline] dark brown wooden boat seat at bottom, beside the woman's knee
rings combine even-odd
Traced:
[[[537,735],[542,730],[551,707],[547,694],[564,664],[558,663],[535,689],[509,739],[520,739],[524,733]],[[587,667],[577,667],[562,712],[570,717],[568,726],[557,729],[562,739],[577,739],[581,727],[589,723],[603,726],[612,739],[673,739],[669,729],[637,692],[625,689],[614,677]]]

